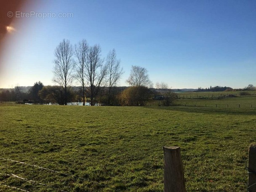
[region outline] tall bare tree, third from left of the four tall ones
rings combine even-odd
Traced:
[[[101,47],[91,46],[88,50],[87,61],[85,63],[85,79],[87,80],[90,104],[95,105],[95,97],[98,95],[100,86],[104,84],[107,75],[107,67],[103,66],[104,59],[101,59]],[[104,85],[103,85],[104,86]]]

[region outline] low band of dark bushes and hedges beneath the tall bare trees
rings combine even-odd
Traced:
[[[70,87],[67,91],[67,102],[91,103],[90,93],[85,92],[83,99],[82,87]],[[160,99],[159,99],[160,98]],[[162,100],[163,106],[173,104],[177,96],[170,89],[147,88],[146,86],[112,87],[109,95],[109,87],[100,87],[99,94],[93,98],[95,104],[109,106],[144,106],[149,101]],[[66,101],[64,89],[61,86],[44,86],[36,82],[29,90],[16,86],[14,89],[2,89],[0,101],[17,101],[19,103],[56,103],[64,105]]]

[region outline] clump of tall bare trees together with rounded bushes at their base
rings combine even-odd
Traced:
[[[149,90],[152,82],[144,67],[132,66],[126,80],[131,87],[122,91],[117,88],[124,72],[115,49],[104,59],[100,45],[88,45],[83,39],[73,46],[64,39],[56,47],[54,56],[53,82],[58,86],[44,87],[39,92],[43,100],[64,105],[82,99],[83,105],[89,102],[90,105],[144,106],[152,98]],[[77,93],[72,90],[74,81],[80,84]]]

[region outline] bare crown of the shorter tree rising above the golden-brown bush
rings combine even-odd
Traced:
[[[131,66],[131,74],[126,82],[131,86],[137,87],[152,86],[152,82],[149,80],[149,75],[147,74],[147,69],[139,66]]]

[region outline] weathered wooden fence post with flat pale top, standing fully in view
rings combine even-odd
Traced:
[[[180,147],[163,147],[164,192],[186,192]]]

